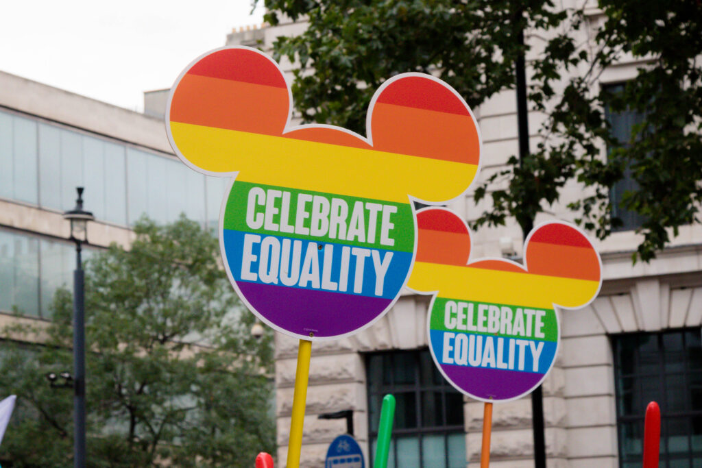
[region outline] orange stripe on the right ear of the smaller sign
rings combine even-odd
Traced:
[[[528,250],[529,273],[600,281],[600,262],[592,247],[529,242]]]

